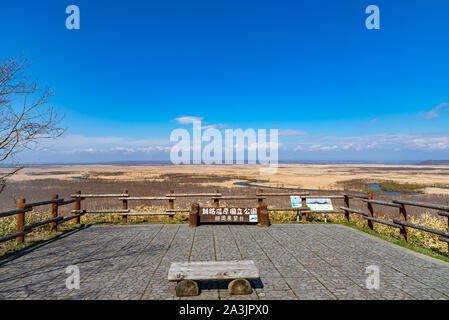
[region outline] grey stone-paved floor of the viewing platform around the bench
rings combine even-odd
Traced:
[[[197,299],[449,299],[449,264],[341,225],[95,226],[0,261],[0,299],[178,299],[174,261],[251,259],[249,296],[201,283]],[[68,265],[80,269],[69,290]],[[366,268],[380,289],[366,289]]]

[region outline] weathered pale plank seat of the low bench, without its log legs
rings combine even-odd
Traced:
[[[257,280],[259,277],[259,269],[252,260],[173,262],[168,271],[168,281]]]

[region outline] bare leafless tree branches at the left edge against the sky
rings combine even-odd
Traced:
[[[26,70],[27,59],[11,57],[0,62],[0,165],[25,149],[34,149],[43,139],[57,138],[65,129],[62,118],[50,104],[53,90],[40,88]],[[0,193],[6,179],[20,168],[0,174]]]

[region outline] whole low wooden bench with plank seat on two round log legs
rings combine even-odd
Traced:
[[[230,294],[251,294],[248,280],[259,279],[259,269],[254,261],[201,261],[173,262],[168,270],[168,281],[177,281],[176,296],[199,295],[197,281],[231,280]]]

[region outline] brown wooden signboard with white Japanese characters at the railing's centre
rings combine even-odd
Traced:
[[[200,222],[257,223],[258,221],[257,207],[200,207]]]

